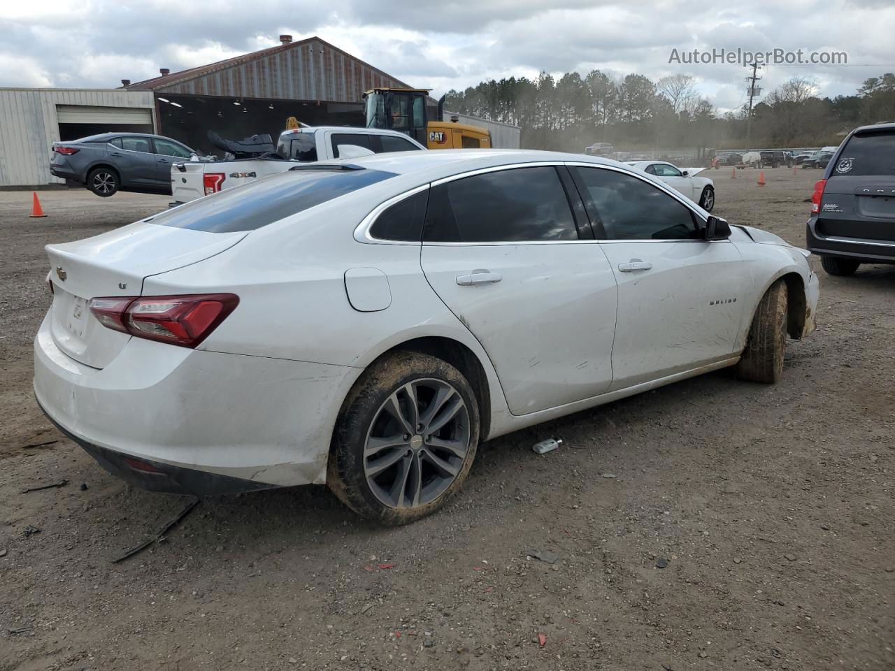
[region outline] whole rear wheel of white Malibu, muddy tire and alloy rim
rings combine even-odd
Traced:
[[[345,399],[327,484],[355,513],[406,524],[463,486],[478,442],[479,406],[464,375],[428,354],[395,352]]]

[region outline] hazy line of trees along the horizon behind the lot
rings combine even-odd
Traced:
[[[581,151],[593,142],[624,149],[813,147],[838,144],[842,130],[895,121],[895,74],[866,80],[850,96],[819,98],[813,80],[794,77],[754,105],[719,115],[686,74],[617,80],[599,70],[555,79],[510,77],[447,93],[446,107],[522,127],[523,147]]]

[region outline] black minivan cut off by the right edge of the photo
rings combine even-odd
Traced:
[[[895,123],[848,134],[814,184],[807,248],[830,275],[895,263]]]

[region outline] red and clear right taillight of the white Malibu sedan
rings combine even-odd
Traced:
[[[233,293],[90,299],[90,311],[104,327],[139,338],[195,347],[239,304]]]

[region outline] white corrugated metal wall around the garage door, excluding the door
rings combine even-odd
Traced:
[[[0,186],[64,182],[49,167],[50,147],[59,140],[57,105],[155,109],[149,91],[0,89]]]

